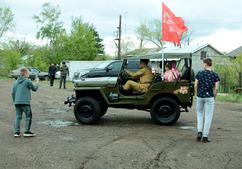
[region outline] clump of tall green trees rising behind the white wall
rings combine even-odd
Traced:
[[[47,38],[50,43],[44,58],[49,62],[59,63],[63,60],[94,60],[97,53],[104,53],[102,39],[94,26],[84,23],[81,17],[72,17],[71,32],[67,34],[58,21],[60,8],[50,3],[42,5],[40,16],[33,18],[40,27],[37,38]]]

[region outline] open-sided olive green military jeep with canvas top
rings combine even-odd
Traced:
[[[146,93],[133,91],[129,95],[121,93],[127,81],[123,78],[124,69],[129,59],[160,59],[161,54],[152,56],[131,56],[123,61],[118,77],[83,78],[74,81],[76,95],[65,100],[71,106],[74,103],[75,118],[82,124],[95,124],[105,115],[108,107],[138,109],[149,111],[152,119],[163,125],[175,123],[181,111],[188,111],[192,106],[194,87],[190,53],[165,53],[165,60],[176,59],[182,69],[181,79],[165,82],[157,81],[154,76]],[[164,59],[163,59],[164,62]]]

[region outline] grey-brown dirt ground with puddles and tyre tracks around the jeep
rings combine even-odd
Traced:
[[[241,169],[242,105],[216,102],[210,143],[195,141],[195,105],[172,126],[148,112],[110,108],[96,125],[81,125],[63,104],[72,88],[40,84],[32,92],[36,137],[14,138],[13,80],[0,79],[1,169]]]

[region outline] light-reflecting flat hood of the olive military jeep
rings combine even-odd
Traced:
[[[114,86],[117,83],[117,77],[95,77],[83,78],[74,80],[75,87],[101,87],[101,86]]]

